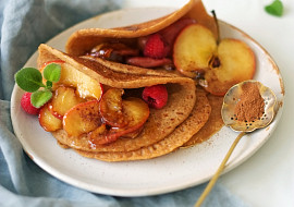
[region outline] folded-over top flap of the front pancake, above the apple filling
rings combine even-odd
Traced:
[[[110,61],[94,61],[61,52],[48,45],[38,48],[38,68],[53,60],[63,60],[76,70],[85,73],[97,82],[117,88],[139,88],[157,84],[180,83],[195,85],[194,81],[175,74],[157,72],[148,69],[114,63]],[[138,70],[138,72],[136,72]],[[193,86],[192,86],[193,87]],[[195,87],[195,86],[194,86]]]

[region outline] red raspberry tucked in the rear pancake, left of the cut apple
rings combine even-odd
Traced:
[[[144,48],[144,56],[149,58],[161,59],[167,57],[168,47],[162,40],[162,36],[159,34],[150,35]]]

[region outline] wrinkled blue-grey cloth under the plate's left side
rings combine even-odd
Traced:
[[[63,29],[102,12],[120,8],[119,0],[1,0],[0,1],[0,206],[1,207],[147,207],[194,206],[205,184],[146,197],[117,197],[90,193],[35,165],[23,151],[10,119],[13,76],[41,42]],[[242,207],[245,204],[219,183],[204,206]]]

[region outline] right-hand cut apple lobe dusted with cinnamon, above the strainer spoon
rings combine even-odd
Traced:
[[[215,95],[224,95],[233,85],[252,80],[255,73],[255,56],[252,49],[237,39],[222,39],[216,59],[205,73],[205,89]],[[217,78],[216,78],[217,77]]]

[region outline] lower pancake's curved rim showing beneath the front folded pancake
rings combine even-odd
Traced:
[[[203,90],[197,90],[197,102],[191,115],[164,139],[152,145],[142,147],[137,150],[126,153],[90,153],[83,150],[76,151],[84,157],[95,158],[103,161],[126,161],[156,158],[174,151],[184,143],[186,143],[204,126],[209,118],[210,111],[211,107],[206,97],[206,93]]]

